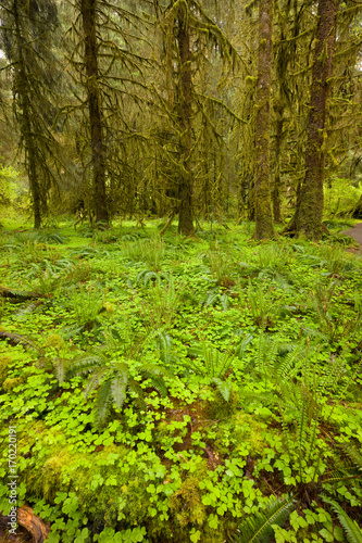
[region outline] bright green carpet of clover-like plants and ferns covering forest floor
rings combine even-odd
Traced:
[[[49,543],[361,542],[348,225],[162,227],[0,231],[0,509],[12,426]]]

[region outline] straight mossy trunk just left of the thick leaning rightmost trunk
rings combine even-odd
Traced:
[[[255,115],[255,239],[267,239],[275,235],[270,190],[273,13],[274,0],[260,0]]]

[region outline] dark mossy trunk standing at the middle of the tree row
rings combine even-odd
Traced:
[[[178,118],[179,118],[179,186],[178,186],[178,232],[192,236],[194,212],[192,212],[192,173],[190,166],[191,154],[191,51],[188,14],[185,5],[178,11],[177,46],[179,58],[178,80]]]

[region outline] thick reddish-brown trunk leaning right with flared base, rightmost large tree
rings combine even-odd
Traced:
[[[336,17],[340,0],[320,0],[307,128],[305,174],[288,232],[321,239],[323,233],[323,181],[326,150],[324,125],[336,43]]]

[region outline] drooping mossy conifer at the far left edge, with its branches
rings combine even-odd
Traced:
[[[13,110],[24,151],[34,211],[39,228],[48,211],[49,191],[57,185],[57,142],[50,130],[57,108],[52,40],[58,27],[52,0],[2,0],[0,27],[13,87]]]

